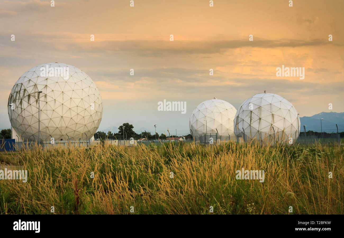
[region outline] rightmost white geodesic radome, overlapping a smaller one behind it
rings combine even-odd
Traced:
[[[299,136],[300,126],[295,107],[287,99],[272,93],[260,93],[246,99],[234,119],[238,141],[289,142],[290,138],[294,141]]]

